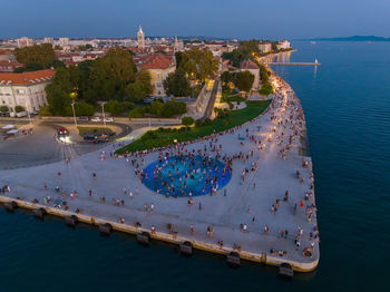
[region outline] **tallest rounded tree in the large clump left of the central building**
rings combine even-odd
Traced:
[[[126,96],[126,88],[135,81],[136,66],[133,56],[121,48],[113,48],[107,55],[94,61],[90,67],[89,84],[98,95],[94,100],[119,99]],[[91,97],[91,96],[90,96]]]

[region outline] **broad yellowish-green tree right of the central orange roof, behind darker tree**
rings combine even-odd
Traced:
[[[218,70],[218,60],[208,49],[194,48],[182,53],[181,68],[188,74],[189,78],[204,81],[206,78],[214,78]]]

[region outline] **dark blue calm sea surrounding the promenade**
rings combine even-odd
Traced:
[[[274,267],[183,257],[127,235],[0,210],[0,291],[389,291],[390,43],[308,42],[279,66],[302,101],[314,164],[321,260],[284,282]],[[348,290],[345,290],[348,289]]]

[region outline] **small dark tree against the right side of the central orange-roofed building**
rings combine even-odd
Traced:
[[[189,96],[192,93],[189,81],[184,69],[178,68],[175,72],[168,75],[164,80],[165,93],[170,96]]]

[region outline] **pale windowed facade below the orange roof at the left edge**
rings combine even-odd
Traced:
[[[38,111],[48,104],[45,87],[49,81],[35,85],[3,85],[0,84],[0,106],[8,106],[14,111],[16,106],[22,106],[27,111]]]

